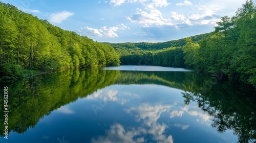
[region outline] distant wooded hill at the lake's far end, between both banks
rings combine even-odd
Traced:
[[[211,33],[191,36],[189,38],[200,43],[201,39]],[[157,65],[187,67],[184,64],[183,46],[186,38],[158,43],[108,43],[114,47],[120,57],[121,65]]]

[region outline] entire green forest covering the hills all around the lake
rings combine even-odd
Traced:
[[[256,87],[255,13],[255,3],[248,0],[233,17],[221,17],[210,33],[158,43],[106,43],[62,30],[1,2],[0,76],[20,78],[33,70],[119,64],[158,65],[212,75],[221,72],[231,81]]]

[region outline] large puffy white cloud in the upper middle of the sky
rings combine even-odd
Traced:
[[[127,19],[131,20],[133,23],[143,24],[143,27],[150,27],[151,25],[156,26],[174,26],[171,19],[163,18],[162,13],[154,7],[153,4],[147,5],[146,10],[149,13],[137,9],[137,12],[128,16]]]

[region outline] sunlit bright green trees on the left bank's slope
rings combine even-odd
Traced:
[[[0,2],[1,67],[15,64],[27,69],[65,69],[119,63],[119,56],[109,44],[62,30]]]

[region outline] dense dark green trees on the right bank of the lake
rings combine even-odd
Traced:
[[[199,71],[224,73],[256,87],[256,7],[250,0],[233,17],[221,17],[215,32],[200,45],[186,39],[185,64]]]

